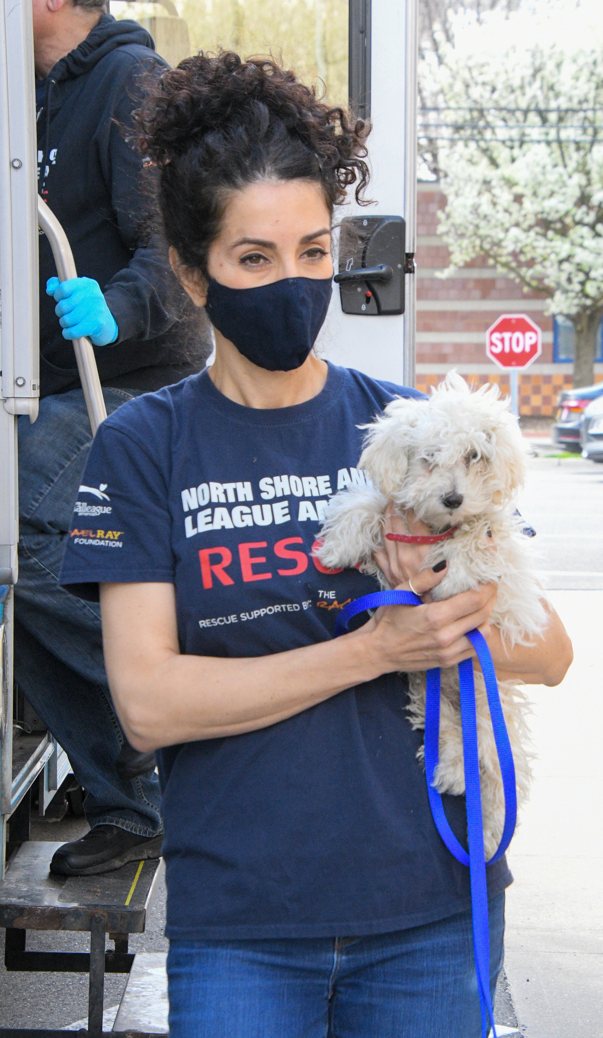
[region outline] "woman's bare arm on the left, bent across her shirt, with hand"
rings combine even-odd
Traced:
[[[225,659],[180,654],[172,584],[103,584],[109,685],[137,749],[239,735],[382,674],[468,658],[464,633],[487,623],[493,601],[484,588],[417,608],[391,606],[340,638]]]

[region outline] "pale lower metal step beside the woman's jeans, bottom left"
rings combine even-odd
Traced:
[[[137,952],[113,1031],[169,1034],[167,952]]]

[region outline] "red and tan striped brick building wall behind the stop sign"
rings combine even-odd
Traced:
[[[501,313],[527,313],[542,328],[542,356],[519,375],[519,410],[553,415],[559,389],[572,385],[572,364],[553,360],[553,319],[546,298],[523,292],[504,273],[476,261],[452,277],[438,277],[449,251],[437,235],[437,212],[446,198],[435,183],[418,185],[417,388],[429,391],[452,367],[468,381],[496,382],[509,392],[509,377],[486,356],[486,331]],[[595,365],[603,379],[603,364]]]

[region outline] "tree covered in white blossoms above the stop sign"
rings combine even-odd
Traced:
[[[603,318],[603,46],[452,52],[440,78],[439,233],[453,269],[486,256],[575,329],[594,381]]]

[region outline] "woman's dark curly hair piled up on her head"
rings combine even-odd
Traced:
[[[181,61],[151,81],[134,113],[142,155],[159,167],[167,241],[207,276],[207,254],[233,191],[260,181],[320,185],[329,213],[369,181],[366,121],[329,108],[268,58],[224,51]]]

